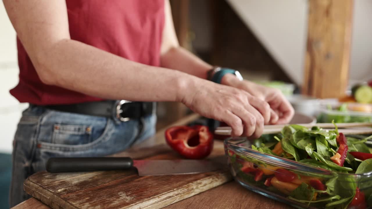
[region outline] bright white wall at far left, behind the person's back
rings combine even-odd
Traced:
[[[0,4],[0,152],[12,151],[12,141],[21,111],[20,104],[9,90],[18,83],[16,34]]]

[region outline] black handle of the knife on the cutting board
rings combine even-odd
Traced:
[[[46,167],[50,173],[122,170],[132,168],[133,160],[130,157],[57,157],[49,158]]]

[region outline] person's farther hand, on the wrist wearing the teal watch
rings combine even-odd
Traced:
[[[224,75],[221,84],[245,90],[269,103],[271,108],[269,124],[286,124],[293,118],[295,111],[279,89],[262,86],[247,80],[240,81],[233,74]]]

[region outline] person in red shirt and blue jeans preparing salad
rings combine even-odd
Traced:
[[[153,135],[154,102],[182,102],[251,138],[294,115],[279,90],[180,47],[168,0],[3,3],[20,69],[10,93],[30,104],[14,139],[10,206],[29,197],[23,181],[50,157],[109,155]]]

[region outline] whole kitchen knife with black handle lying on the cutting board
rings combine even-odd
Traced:
[[[67,157],[49,158],[50,173],[125,170],[137,168],[139,176],[195,174],[227,168],[227,158],[210,160],[133,160],[130,157]]]

